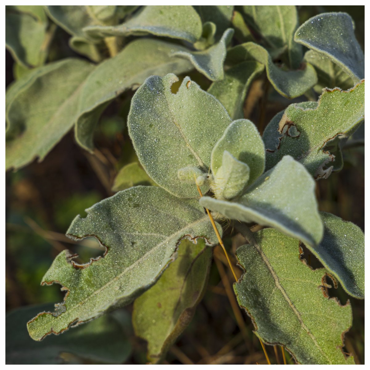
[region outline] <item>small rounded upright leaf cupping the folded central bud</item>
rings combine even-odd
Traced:
[[[224,151],[227,150],[238,161],[250,169],[248,184],[252,184],[265,170],[265,145],[256,128],[249,120],[233,121],[216,142],[211,154],[212,173],[223,165]]]

